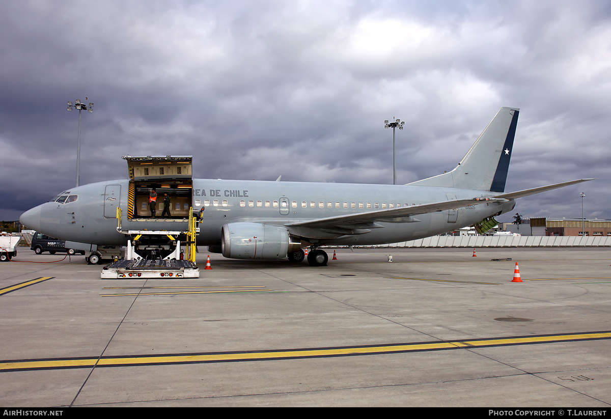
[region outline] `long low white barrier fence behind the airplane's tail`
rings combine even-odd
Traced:
[[[373,247],[604,247],[611,236],[433,236]]]

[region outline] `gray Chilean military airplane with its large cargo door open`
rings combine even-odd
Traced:
[[[88,260],[94,263],[100,257],[96,246],[125,246],[125,230],[188,230],[192,207],[200,217],[197,244],[211,252],[302,261],[303,249],[309,248],[308,263],[321,266],[328,260],[321,246],[438,235],[507,213],[518,198],[591,180],[505,193],[518,114],[519,109],[502,107],[454,170],[406,185],[192,179],[190,157],[125,156],[130,179],[64,191],[26,211],[20,221],[67,241],[67,247],[93,251]],[[169,211],[162,217],[164,205]],[[174,250],[166,236],[140,241],[144,258],[163,258]]]

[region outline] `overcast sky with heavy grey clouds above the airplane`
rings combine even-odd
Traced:
[[[194,177],[398,183],[452,170],[521,109],[505,191],[523,217],[611,218],[608,1],[0,0],[0,220],[121,156]],[[513,214],[500,220],[510,221]]]

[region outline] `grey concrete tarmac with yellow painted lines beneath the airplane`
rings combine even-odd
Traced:
[[[608,248],[327,252],[109,280],[19,249],[0,406],[611,406]]]

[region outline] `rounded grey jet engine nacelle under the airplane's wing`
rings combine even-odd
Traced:
[[[288,230],[257,222],[232,222],[222,227],[223,256],[232,259],[284,259],[301,249]]]

